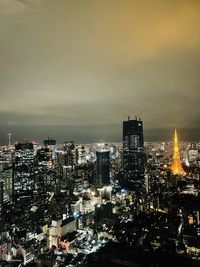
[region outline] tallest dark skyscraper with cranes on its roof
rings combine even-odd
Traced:
[[[123,122],[123,168],[125,181],[130,189],[144,185],[144,138],[143,123],[139,119]]]

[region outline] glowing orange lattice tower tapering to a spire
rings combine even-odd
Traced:
[[[174,155],[173,155],[173,163],[171,166],[171,171],[174,175],[185,175],[186,174],[180,161],[179,143],[178,143],[178,136],[177,136],[176,129],[174,133]]]

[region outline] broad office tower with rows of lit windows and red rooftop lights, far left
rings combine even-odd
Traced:
[[[16,143],[14,153],[14,193],[27,194],[34,190],[34,152],[32,143]]]

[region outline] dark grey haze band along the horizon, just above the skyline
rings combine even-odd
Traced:
[[[174,128],[145,128],[145,142],[173,141]],[[199,128],[176,127],[180,142],[198,141]],[[8,144],[8,134],[11,133],[11,143],[25,140],[42,143],[43,140],[52,138],[57,143],[74,141],[80,144],[98,142],[122,142],[122,123],[94,124],[94,125],[0,125],[0,144]]]

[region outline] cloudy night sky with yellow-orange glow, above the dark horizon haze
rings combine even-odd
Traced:
[[[199,136],[199,25],[199,0],[0,0],[1,127]]]

